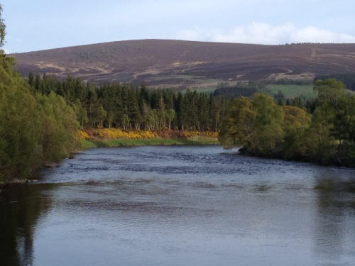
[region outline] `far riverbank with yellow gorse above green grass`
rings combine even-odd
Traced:
[[[218,133],[200,131],[123,131],[90,128],[80,131],[82,148],[141,145],[219,145]]]

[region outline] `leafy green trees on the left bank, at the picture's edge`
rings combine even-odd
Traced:
[[[0,48],[5,24],[1,18]],[[79,147],[77,116],[61,96],[31,92],[13,57],[0,49],[0,182],[28,177]]]

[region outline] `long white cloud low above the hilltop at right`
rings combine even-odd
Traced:
[[[271,26],[251,23],[230,29],[193,28],[179,31],[173,36],[180,40],[201,40],[222,43],[255,43],[278,45],[284,43],[355,43],[355,36],[334,33],[316,27],[296,28],[287,23]]]

